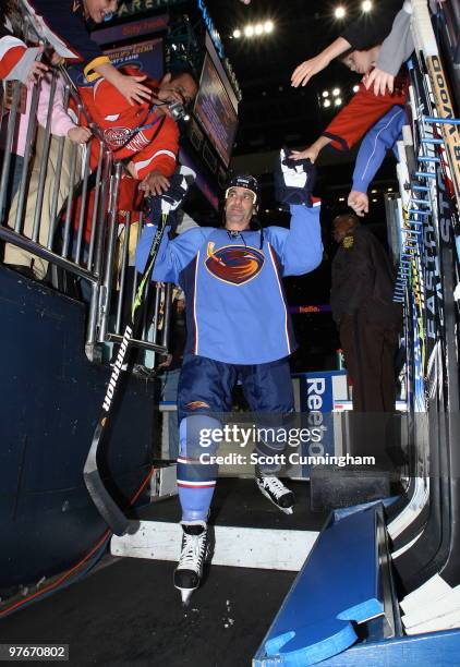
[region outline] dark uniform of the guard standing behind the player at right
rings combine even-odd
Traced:
[[[334,258],[330,293],[356,412],[395,411],[395,353],[402,313],[392,303],[392,269],[384,248],[358,225]]]

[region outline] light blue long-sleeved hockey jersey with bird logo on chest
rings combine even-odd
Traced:
[[[300,276],[323,256],[319,204],[291,206],[291,228],[229,232],[190,229],[159,247],[153,280],[185,292],[185,353],[230,364],[263,364],[295,349],[282,276]],[[136,255],[144,270],[155,226],[147,226]],[[262,247],[261,240],[263,239]]]

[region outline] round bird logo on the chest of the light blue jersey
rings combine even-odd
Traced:
[[[255,278],[264,266],[264,253],[245,245],[225,245],[214,250],[215,243],[207,244],[205,266],[213,276],[230,282],[244,284]]]

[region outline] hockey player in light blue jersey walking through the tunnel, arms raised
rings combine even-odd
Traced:
[[[322,260],[319,203],[311,191],[314,167],[281,151],[278,198],[290,205],[291,227],[257,229],[258,184],[235,177],[226,191],[221,229],[191,229],[164,239],[154,280],[179,283],[187,303],[187,342],[179,380],[180,454],[178,488],[182,507],[182,550],[174,585],[187,601],[198,585],[207,551],[207,518],[217,466],[199,463],[203,428],[221,426],[217,414],[231,409],[237,380],[252,411],[282,422],[293,412],[289,355],[295,348],[281,278],[313,270]],[[136,266],[145,266],[155,226],[147,226]],[[257,444],[259,454],[276,442]],[[205,451],[216,451],[217,442]],[[261,461],[261,459],[259,459]],[[263,473],[266,473],[264,476]],[[292,512],[293,494],[264,466],[256,468],[261,492]]]

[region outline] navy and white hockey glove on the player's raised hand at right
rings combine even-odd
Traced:
[[[275,196],[280,204],[312,206],[312,190],[316,181],[316,168],[310,159],[293,160],[287,157],[288,148],[281,148],[275,168]]]

